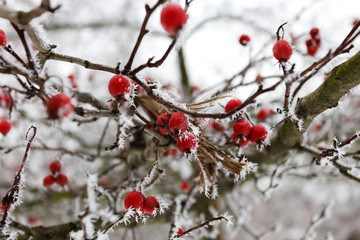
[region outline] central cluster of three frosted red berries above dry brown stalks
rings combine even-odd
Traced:
[[[161,134],[168,135],[167,130],[169,130],[170,133],[177,136],[176,146],[180,152],[190,153],[191,150],[196,148],[196,137],[193,134],[186,132],[189,121],[181,112],[161,114],[157,118],[156,123],[162,126],[158,128],[158,131]]]

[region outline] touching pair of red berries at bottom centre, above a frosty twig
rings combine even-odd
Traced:
[[[159,209],[159,201],[152,196],[144,197],[141,192],[132,191],[126,194],[124,199],[124,205],[126,209],[135,208],[140,209],[143,213],[152,214],[155,209]]]

